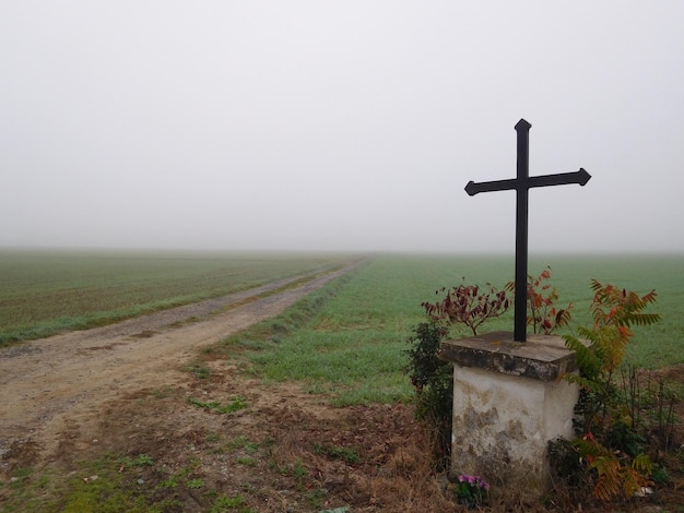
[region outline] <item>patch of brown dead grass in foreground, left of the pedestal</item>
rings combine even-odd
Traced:
[[[66,473],[83,458],[107,453],[129,461],[148,455],[152,466],[121,472],[130,475],[130,486],[144,480],[148,500],[172,500],[168,512],[208,511],[216,496],[240,496],[243,508],[250,509],[245,511],[257,512],[342,506],[351,512],[467,511],[456,503],[446,476],[433,468],[428,430],[412,406],[334,408],[296,383],[266,385],[227,361],[204,363],[212,370],[209,379],[187,373],[163,390],[141,390],[103,405],[94,431],[63,433],[58,465]],[[188,403],[190,397],[225,403],[236,395],[248,406],[227,415]],[[358,457],[346,461],[340,453]],[[173,476],[181,476],[179,485],[165,488]],[[188,479],[201,479],[204,487],[184,487]],[[657,500],[614,504],[608,511],[661,511],[659,503],[681,503],[680,485],[661,491]],[[499,492],[485,511],[606,511],[590,498],[580,505],[577,498],[571,503],[562,494],[546,503],[524,496],[523,490]]]

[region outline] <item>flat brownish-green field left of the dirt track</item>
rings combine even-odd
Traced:
[[[343,261],[285,253],[0,251],[0,345],[107,324]]]

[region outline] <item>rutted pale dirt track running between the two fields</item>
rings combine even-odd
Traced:
[[[297,278],[0,349],[0,476],[17,443],[49,460],[70,430],[98,420],[101,405],[187,379],[182,366],[199,348],[281,313],[349,270],[283,291]]]

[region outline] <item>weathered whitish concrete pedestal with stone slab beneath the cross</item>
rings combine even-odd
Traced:
[[[451,474],[539,496],[549,482],[546,443],[573,438],[579,391],[559,378],[576,372],[558,336],[495,332],[441,344],[453,362]]]

